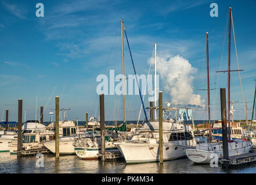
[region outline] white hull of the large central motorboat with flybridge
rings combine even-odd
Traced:
[[[120,143],[117,145],[127,163],[159,161],[159,145],[147,143]],[[173,160],[186,156],[186,146],[163,143],[163,160]]]

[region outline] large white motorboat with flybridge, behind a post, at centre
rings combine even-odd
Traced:
[[[178,112],[186,113],[188,108],[164,107],[163,110],[164,117],[167,117],[166,120],[163,120],[163,160],[185,157],[185,150],[195,147],[196,139],[194,138],[193,129],[190,125],[183,124],[177,115]],[[174,112],[174,119],[170,119],[170,112]],[[184,115],[179,116],[181,118]],[[127,163],[159,161],[158,121],[146,122],[137,132],[139,134],[132,136],[131,140],[116,143],[125,161]]]

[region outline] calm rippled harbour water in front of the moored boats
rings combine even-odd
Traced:
[[[75,155],[44,157],[44,167],[37,167],[36,157],[21,157],[0,153],[0,173],[256,173],[256,165],[224,171],[220,166],[198,165],[188,158],[164,161],[163,167],[157,162],[125,164],[125,162],[85,161]]]

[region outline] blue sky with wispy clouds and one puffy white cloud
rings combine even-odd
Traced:
[[[37,17],[37,3],[44,17]],[[218,17],[211,17],[211,3]],[[17,121],[18,99],[23,99],[23,119],[44,121],[60,108],[68,119],[85,120],[85,112],[99,116],[98,75],[122,73],[121,24],[124,21],[138,75],[149,71],[157,43],[157,74],[163,102],[189,105],[194,120],[208,114],[205,32],[209,36],[211,118],[221,119],[219,88],[228,91],[228,9],[232,7],[241,86],[251,119],[256,69],[256,1],[0,1],[0,116]],[[232,30],[231,30],[232,31]],[[233,32],[233,31],[232,31]],[[237,70],[231,34],[231,70]],[[124,42],[125,75],[134,75],[127,42]],[[154,73],[154,65],[150,74]],[[142,90],[143,91],[143,90]],[[245,119],[238,72],[231,73],[234,119]],[[228,97],[227,97],[228,98]],[[145,106],[149,106],[147,95]],[[105,120],[122,120],[122,96],[105,95]],[[126,96],[127,120],[138,120],[139,95]],[[63,116],[62,116],[63,117]],[[143,120],[145,116],[140,116]]]

